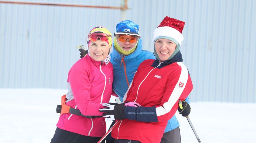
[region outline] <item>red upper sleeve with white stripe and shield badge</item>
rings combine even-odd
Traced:
[[[178,101],[185,100],[193,89],[187,67],[182,62],[177,62],[177,64],[180,67],[168,78],[161,104],[156,106],[159,122],[168,121],[172,118],[178,109]]]

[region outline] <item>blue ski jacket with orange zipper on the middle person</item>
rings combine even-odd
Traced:
[[[113,45],[114,46],[114,45]],[[133,76],[137,71],[139,65],[146,59],[156,59],[152,52],[142,50],[142,40],[139,39],[136,50],[128,55],[124,56],[119,54],[113,47],[113,52],[110,54],[110,62],[113,65],[113,90],[118,95],[121,102],[123,102],[123,97],[128,90],[129,84],[133,80]],[[189,103],[189,98],[186,98]],[[166,126],[164,133],[176,129],[179,127],[179,122],[174,115]]]

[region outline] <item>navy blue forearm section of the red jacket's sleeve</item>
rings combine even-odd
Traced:
[[[156,116],[156,107],[131,107],[125,108],[125,119],[136,120],[141,122],[158,122]]]

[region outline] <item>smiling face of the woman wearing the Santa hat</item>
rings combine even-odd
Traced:
[[[177,45],[169,39],[158,39],[155,41],[156,53],[161,61],[166,61],[174,52]]]

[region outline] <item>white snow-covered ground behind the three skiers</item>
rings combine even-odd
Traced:
[[[65,89],[0,89],[0,143],[47,143],[56,129],[55,112]],[[202,143],[255,143],[256,104],[191,101],[190,119]],[[197,143],[185,117],[181,142]],[[110,125],[110,122],[108,122]]]

